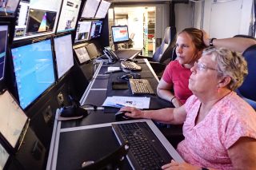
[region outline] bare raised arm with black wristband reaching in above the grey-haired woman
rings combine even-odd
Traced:
[[[204,30],[203,32],[203,42],[209,46],[210,38],[209,35],[206,34]],[[216,47],[224,47],[237,52],[244,52],[251,45],[256,44],[256,41],[250,38],[222,38],[222,39],[214,39],[213,45]]]

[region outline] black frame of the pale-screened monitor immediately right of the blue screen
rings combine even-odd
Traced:
[[[66,73],[64,73],[61,77],[58,77],[58,65],[57,65],[57,57],[56,57],[56,53],[55,53],[55,42],[54,42],[54,38],[61,38],[61,37],[64,37],[64,36],[67,36],[67,35],[70,35],[70,38],[71,38],[71,49],[72,49],[72,53],[73,53],[73,61],[74,61],[74,51],[73,51],[73,41],[72,41],[72,34],[70,34],[70,32],[65,32],[65,33],[60,33],[60,34],[55,34],[55,35],[52,35],[52,48],[53,48],[53,57],[54,57],[54,72],[55,72],[55,81],[61,81],[64,77],[66,77],[70,71],[74,68],[74,65],[72,65],[72,67],[70,69],[68,69],[66,71]],[[74,63],[75,64],[75,63]]]

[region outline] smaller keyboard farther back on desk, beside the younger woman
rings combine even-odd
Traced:
[[[129,79],[129,83],[133,94],[154,94],[150,82],[146,79]]]

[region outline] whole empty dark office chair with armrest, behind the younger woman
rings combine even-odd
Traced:
[[[147,58],[150,61],[150,65],[154,69],[154,72],[158,77],[162,77],[162,72],[166,68],[164,63],[166,60],[170,59],[173,50],[173,40],[176,36],[175,27],[167,27],[165,30],[164,38],[161,45],[156,49],[153,57],[138,56],[136,58]]]

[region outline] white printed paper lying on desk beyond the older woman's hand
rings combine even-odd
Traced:
[[[138,109],[149,109],[150,97],[106,97],[106,100],[102,106],[109,106],[114,108],[130,106]]]

